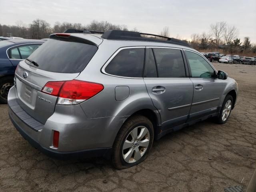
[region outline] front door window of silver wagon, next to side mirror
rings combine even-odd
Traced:
[[[210,64],[200,55],[186,51],[190,65],[191,76],[195,78],[214,78],[215,72]]]

